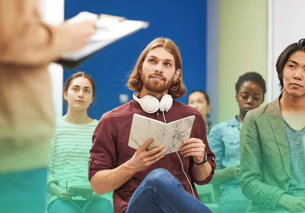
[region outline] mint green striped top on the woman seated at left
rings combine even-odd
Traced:
[[[72,186],[89,187],[88,162],[92,148],[92,136],[99,121],[86,125],[68,123],[60,117],[56,121],[55,134],[51,138],[51,164],[48,182],[55,182],[60,188]],[[112,192],[101,195],[113,202]],[[48,203],[58,198],[50,194]]]

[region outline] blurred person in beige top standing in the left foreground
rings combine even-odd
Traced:
[[[47,68],[96,31],[95,21],[45,24],[39,8],[39,1],[0,0],[0,212],[45,212],[55,128]]]

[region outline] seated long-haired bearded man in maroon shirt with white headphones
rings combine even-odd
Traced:
[[[97,194],[114,191],[115,213],[211,212],[194,186],[207,184],[216,168],[200,112],[173,99],[186,94],[182,62],[175,43],[167,38],[150,42],[139,56],[128,86],[134,100],[105,113],[93,135],[89,179]],[[133,115],[162,122],[195,115],[191,137],[179,152],[164,146],[147,150],[154,138],[128,146]],[[166,120],[165,120],[166,119]]]

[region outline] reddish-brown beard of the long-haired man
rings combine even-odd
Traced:
[[[160,76],[163,78],[163,81],[156,81],[151,79],[151,76],[152,75],[146,77],[142,74],[141,81],[145,89],[149,90],[150,92],[158,93],[158,94],[166,92],[170,88],[174,80],[174,76],[172,77],[171,80],[168,81],[163,75],[154,74],[154,76]]]

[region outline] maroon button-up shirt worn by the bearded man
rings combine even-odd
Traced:
[[[158,111],[148,114],[141,109],[141,106],[134,100],[127,104],[121,105],[110,112],[105,113],[100,119],[93,135],[93,147],[90,150],[90,161],[88,175],[91,178],[95,173],[104,169],[113,169],[124,164],[132,158],[135,149],[128,146],[129,135],[131,130],[133,114],[140,114],[146,117],[154,118],[164,122],[162,112]],[[202,115],[194,108],[189,107],[177,101],[173,101],[173,105],[168,112],[164,112],[167,123],[178,120],[187,116],[195,115],[194,125],[191,132],[191,138],[199,138],[203,141],[205,151],[207,152],[207,162],[212,167],[212,172],[204,181],[197,181],[193,178],[192,167],[193,159],[184,158],[180,155],[184,164],[185,172],[191,181],[195,196],[200,199],[194,182],[198,185],[204,185],[209,182],[216,168],[215,155],[210,150],[206,140],[206,127]],[[144,142],[144,141],[143,141]],[[114,212],[123,212],[128,202],[140,185],[145,176],[152,170],[157,168],[167,169],[173,176],[179,179],[184,189],[192,194],[190,184],[187,177],[182,171],[180,160],[176,153],[165,155],[158,162],[151,165],[148,169],[137,172],[123,186],[113,192]],[[101,182],[101,184],[103,184]]]

